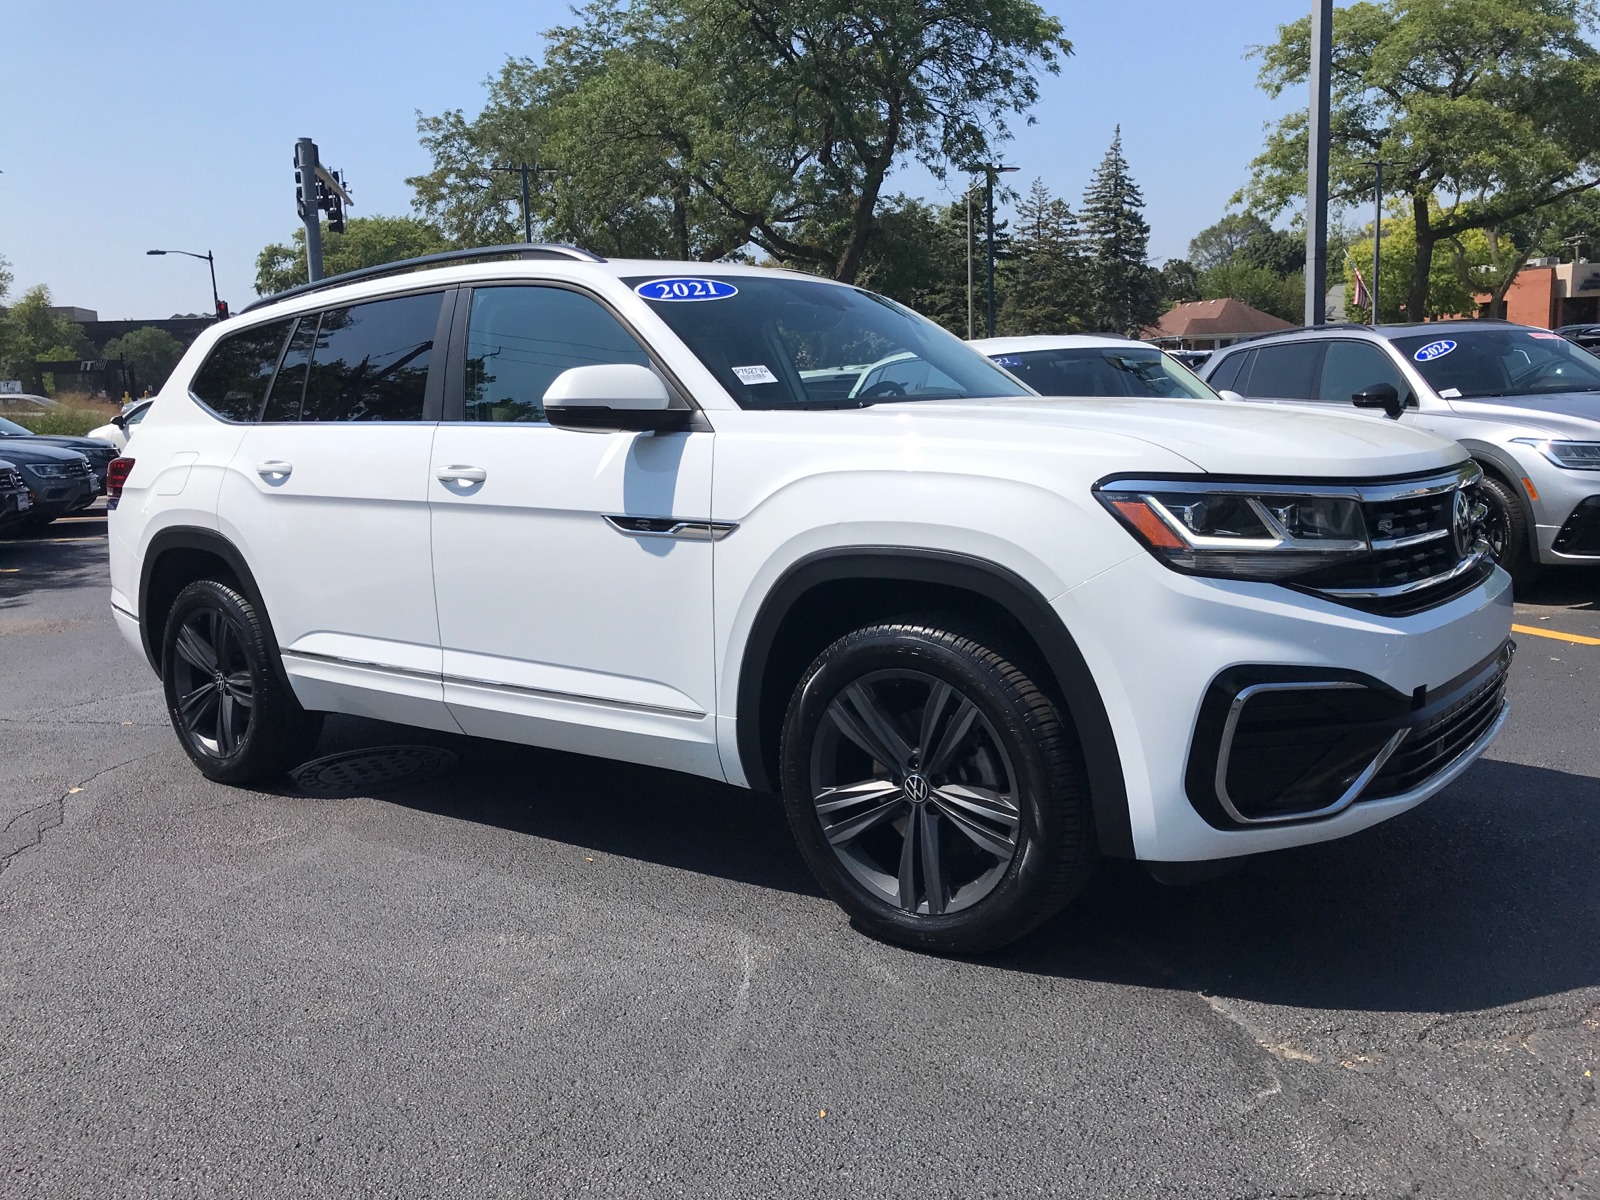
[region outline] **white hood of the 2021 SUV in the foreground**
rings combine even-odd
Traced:
[[[1456,442],[1354,410],[1346,416],[1226,400],[1006,397],[923,400],[882,405],[877,411],[1034,426],[1040,435],[1122,435],[1181,454],[1216,475],[1371,478],[1438,470],[1467,458]]]

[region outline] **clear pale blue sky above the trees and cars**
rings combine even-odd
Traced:
[[[1306,0],[1112,3],[1045,0],[1075,56],[1045,77],[1037,123],[1002,150],[1075,205],[1122,125],[1144,189],[1150,256],[1186,251],[1245,181],[1269,101],[1248,46]],[[307,26],[306,21],[310,19]],[[0,46],[0,254],[16,291],[102,318],[210,309],[205,264],[146,250],[213,250],[222,298],[254,291],[254,258],[288,240],[294,139],[342,168],[352,214],[406,213],[405,178],[427,170],[416,110],[475,112],[507,56],[538,54],[565,3],[72,3],[6,0]],[[894,190],[941,198],[920,170]],[[960,187],[960,184],[954,184]],[[944,197],[947,198],[947,197]]]

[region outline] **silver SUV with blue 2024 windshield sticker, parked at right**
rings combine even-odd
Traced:
[[[1451,437],[1483,467],[1494,558],[1600,565],[1600,358],[1506,322],[1330,325],[1221,350],[1211,387],[1278,406],[1350,411]],[[1384,408],[1387,405],[1387,408]]]

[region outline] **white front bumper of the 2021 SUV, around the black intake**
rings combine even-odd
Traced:
[[[1381,800],[1352,797],[1315,819],[1211,821],[1189,795],[1203,699],[1229,670],[1362,677],[1430,707],[1490,662],[1510,634],[1510,579],[1494,571],[1437,608],[1384,618],[1269,584],[1184,576],[1149,555],[1054,600],[1101,688],[1128,790],[1134,853],[1197,861],[1346,837],[1445,787],[1504,722],[1496,709],[1464,754]],[[1429,699],[1432,698],[1432,699]]]

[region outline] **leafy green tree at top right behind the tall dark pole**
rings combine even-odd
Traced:
[[[1418,253],[1405,291],[1413,320],[1429,296],[1435,248],[1504,226],[1600,173],[1600,51],[1592,0],[1381,0],[1334,10],[1330,170],[1334,202],[1387,189],[1410,210]],[[1310,18],[1259,46],[1272,96],[1306,82]],[[1235,200],[1275,214],[1306,195],[1306,114],[1267,134]]]

